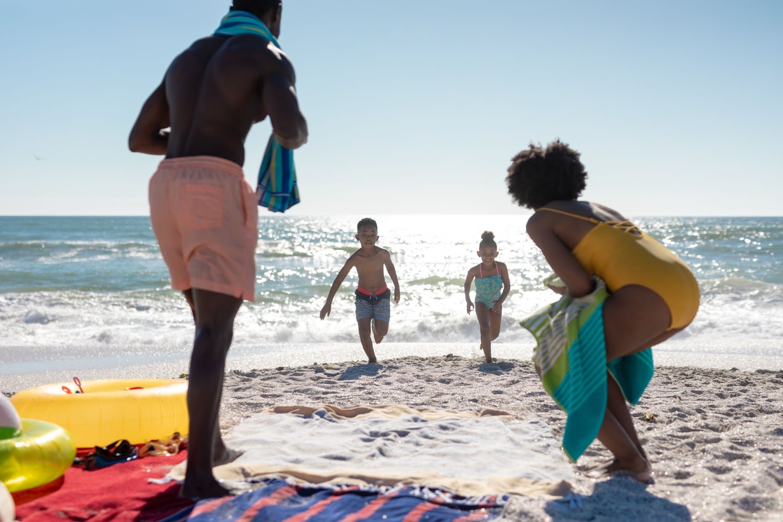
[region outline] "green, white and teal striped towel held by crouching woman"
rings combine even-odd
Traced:
[[[650,349],[606,362],[603,311],[609,293],[600,277],[594,281],[592,293],[579,298],[564,295],[519,323],[536,338],[532,359],[541,369],[544,390],[568,415],[563,449],[572,460],[579,459],[601,430],[607,372],[632,404],[637,404],[654,372]],[[544,285],[563,284],[553,274]]]

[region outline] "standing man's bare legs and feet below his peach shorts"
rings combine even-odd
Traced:
[[[212,462],[215,444],[222,445],[225,450],[219,438],[218,411],[234,317],[242,299],[197,288],[192,289],[192,295],[196,338],[190,357],[187,394],[190,416],[188,461],[180,495],[215,498],[229,495],[229,491],[212,475]]]

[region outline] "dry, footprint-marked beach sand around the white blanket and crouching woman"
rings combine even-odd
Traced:
[[[783,370],[656,368],[632,409],[654,480],[594,480],[595,442],[576,464],[574,495],[512,499],[504,520],[783,520]],[[405,357],[226,374],[224,433],[275,404],[500,408],[536,416],[561,437],[565,414],[529,361]],[[488,433],[491,437],[491,433]],[[480,451],[480,448],[477,448]]]

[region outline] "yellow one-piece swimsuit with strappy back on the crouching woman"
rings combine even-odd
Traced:
[[[599,219],[539,208],[594,223],[572,250],[572,254],[590,275],[606,281],[609,292],[627,285],[651,289],[669,306],[669,329],[684,328],[698,310],[698,283],[693,272],[669,248],[639,230],[630,221]]]

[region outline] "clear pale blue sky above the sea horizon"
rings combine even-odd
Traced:
[[[0,0],[0,215],[146,215],[159,158],[128,131],[228,6]],[[280,44],[310,129],[293,214],[523,212],[509,159],[556,137],[628,215],[783,214],[779,0],[284,0]]]

